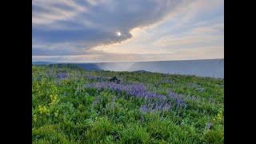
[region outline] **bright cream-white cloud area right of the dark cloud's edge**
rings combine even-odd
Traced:
[[[181,3],[161,21],[142,29],[130,30],[133,38],[110,46],[96,46],[93,50],[112,54],[169,54],[170,51],[180,49],[200,50],[199,47],[224,49],[224,15],[223,11],[219,10],[223,3],[214,0],[205,1],[202,5],[201,2],[203,1],[191,1],[190,5]],[[206,17],[208,14],[209,18]]]

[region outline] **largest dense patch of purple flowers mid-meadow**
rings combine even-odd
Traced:
[[[120,84],[115,82],[95,82],[87,84],[86,87],[98,90],[113,90],[118,94],[126,93],[128,96],[134,98],[143,98],[145,100],[156,99],[157,101],[146,101],[146,105],[141,106],[141,111],[154,112],[170,110],[170,102],[166,100],[166,96],[156,94],[154,92],[146,91],[146,86],[142,84]],[[184,107],[186,102],[182,99],[182,95],[175,94],[170,91],[170,99],[174,100],[176,106]]]

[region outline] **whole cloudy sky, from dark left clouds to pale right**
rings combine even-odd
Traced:
[[[224,58],[223,0],[32,0],[32,59]]]

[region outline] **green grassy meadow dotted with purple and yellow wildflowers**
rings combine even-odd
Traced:
[[[224,79],[32,66],[33,143],[223,143]]]

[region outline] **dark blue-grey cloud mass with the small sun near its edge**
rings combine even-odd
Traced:
[[[160,21],[182,2],[33,0],[33,38],[45,43],[33,43],[33,54],[83,54],[94,46],[122,42],[133,37],[130,30]],[[116,31],[122,35],[117,37]]]

